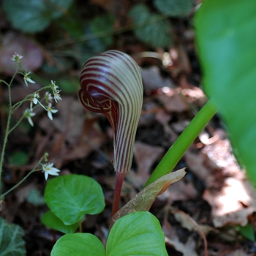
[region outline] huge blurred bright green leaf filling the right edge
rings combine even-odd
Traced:
[[[256,185],[256,1],[205,1],[195,15],[203,86]]]

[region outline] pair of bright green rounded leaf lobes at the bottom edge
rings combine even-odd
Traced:
[[[137,211],[118,219],[110,230],[106,247],[107,253],[99,239],[91,234],[67,234],[59,238],[51,255],[167,255],[159,221],[147,211]]]

